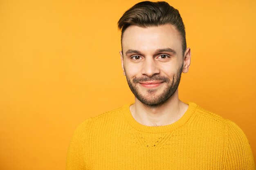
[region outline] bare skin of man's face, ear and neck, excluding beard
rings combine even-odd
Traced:
[[[129,26],[122,39],[121,64],[127,79],[135,77],[163,76],[173,81],[180,68],[182,73],[189,71],[191,50],[182,53],[180,33],[171,24],[152,27]],[[148,100],[161,95],[166,82],[155,80],[136,83],[136,88]],[[180,101],[178,89],[164,103],[149,107],[135,97],[130,106],[132,117],[142,125],[164,126],[172,124],[184,115],[188,105]]]

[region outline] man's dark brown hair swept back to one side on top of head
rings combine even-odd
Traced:
[[[124,31],[130,25],[140,27],[159,26],[172,24],[179,31],[182,38],[182,52],[186,51],[186,32],[180,13],[167,2],[144,1],[128,9],[118,21],[121,30],[121,43]]]

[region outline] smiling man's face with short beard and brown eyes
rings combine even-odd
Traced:
[[[188,71],[189,51],[182,53],[179,32],[171,24],[129,26],[122,38],[122,67],[128,85],[143,104],[157,107],[177,93],[182,71]],[[184,65],[185,67],[184,68]]]

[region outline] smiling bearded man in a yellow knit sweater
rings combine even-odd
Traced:
[[[67,170],[255,170],[236,124],[179,100],[191,50],[177,9],[140,2],[118,27],[135,103],[84,121],[70,143]]]

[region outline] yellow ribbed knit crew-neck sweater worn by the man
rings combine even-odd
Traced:
[[[255,170],[249,142],[232,121],[189,103],[175,123],[144,126],[129,106],[75,130],[67,170]]]

